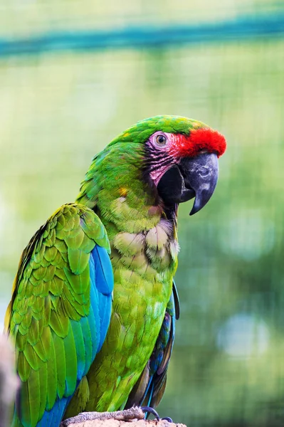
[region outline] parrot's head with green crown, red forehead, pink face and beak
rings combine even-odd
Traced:
[[[130,155],[135,148],[142,150],[142,179],[165,206],[195,197],[193,215],[211,198],[218,158],[226,149],[225,138],[216,130],[186,117],[163,115],[138,122],[111,144],[117,142],[132,143]]]

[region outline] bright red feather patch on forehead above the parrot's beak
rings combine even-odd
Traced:
[[[194,157],[201,150],[216,153],[220,157],[226,150],[226,139],[216,130],[200,128],[191,130],[189,136],[176,135],[172,150],[179,157]]]

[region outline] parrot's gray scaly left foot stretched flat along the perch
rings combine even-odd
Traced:
[[[147,412],[154,413],[154,416],[157,416],[157,412],[149,411],[151,408],[147,408]],[[153,412],[154,411],[154,412]],[[159,416],[158,416],[159,417]],[[73,423],[83,423],[84,421],[93,421],[93,420],[109,420],[115,419],[117,421],[128,421],[137,418],[142,420],[145,418],[144,408],[140,406],[132,406],[132,408],[125,409],[124,411],[115,411],[115,412],[81,412],[78,416],[73,416],[72,418],[67,418],[61,422],[61,427],[67,427]]]

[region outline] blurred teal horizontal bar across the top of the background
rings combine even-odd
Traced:
[[[97,51],[105,48],[151,48],[283,36],[284,14],[273,14],[200,25],[145,25],[105,31],[58,31],[31,38],[0,38],[0,56],[56,51]]]

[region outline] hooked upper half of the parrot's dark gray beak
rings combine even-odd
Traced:
[[[189,215],[196,214],[206,205],[214,193],[218,181],[218,157],[213,153],[184,157],[179,164],[179,169],[184,178],[181,201],[192,199],[195,196],[194,206]]]

